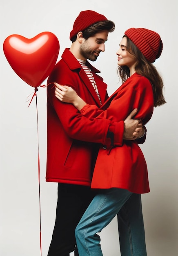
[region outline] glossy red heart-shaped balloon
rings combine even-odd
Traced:
[[[38,87],[56,64],[59,41],[51,32],[42,32],[31,39],[11,35],[4,40],[3,50],[16,74],[32,87]]]

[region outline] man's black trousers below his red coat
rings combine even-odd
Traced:
[[[76,247],[75,229],[96,191],[88,186],[58,184],[56,221],[48,256],[69,256]]]

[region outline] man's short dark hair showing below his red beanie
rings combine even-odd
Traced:
[[[115,24],[113,21],[103,20],[103,21],[97,22],[97,23],[91,25],[90,27],[88,27],[87,29],[83,30],[82,34],[85,39],[88,39],[89,37],[94,36],[95,34],[97,34],[100,31],[107,30],[108,32],[113,32],[114,29],[115,29]],[[71,39],[72,43],[75,42],[76,39],[77,39],[77,35]]]

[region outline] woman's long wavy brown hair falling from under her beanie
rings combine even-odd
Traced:
[[[156,70],[156,67],[147,61],[138,47],[136,47],[136,45],[134,45],[134,43],[132,43],[132,41],[127,36],[124,35],[123,37],[127,38],[127,51],[137,59],[135,65],[136,73],[140,74],[141,76],[145,76],[147,79],[149,79],[152,85],[154,94],[154,106],[157,107],[165,104],[166,101],[162,93],[164,85],[160,74]],[[128,77],[130,77],[130,70],[127,66],[119,66],[118,72],[123,83],[127,80]]]

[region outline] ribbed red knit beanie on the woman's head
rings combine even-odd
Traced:
[[[130,28],[125,35],[138,47],[147,61],[153,63],[162,52],[162,40],[158,33],[144,28]]]

